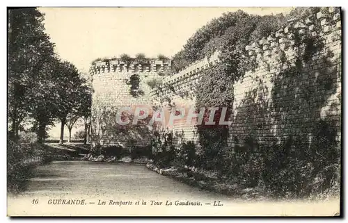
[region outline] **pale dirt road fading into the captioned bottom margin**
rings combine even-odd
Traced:
[[[39,199],[39,204],[31,204],[33,199]],[[48,205],[49,199],[86,199],[88,206]],[[132,201],[132,205],[109,205],[111,200]],[[97,205],[102,201],[106,205]],[[147,204],[136,206],[136,201]],[[162,203],[156,206],[152,201]],[[172,206],[166,206],[167,201]],[[176,205],[186,201],[198,205]],[[334,215],[339,203],[242,201],[193,188],[145,165],[54,161],[34,170],[24,194],[10,197],[8,208],[10,213],[25,215]]]

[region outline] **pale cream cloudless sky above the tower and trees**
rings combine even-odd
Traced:
[[[56,53],[88,72],[95,58],[127,53],[171,57],[196,30],[223,13],[270,15],[291,8],[40,8]]]

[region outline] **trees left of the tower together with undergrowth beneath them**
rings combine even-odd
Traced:
[[[49,126],[61,121],[63,143],[65,124],[71,132],[78,117],[90,117],[91,89],[84,74],[54,53],[40,10],[12,9],[8,19],[8,190],[19,192],[32,168],[56,155],[42,143]]]

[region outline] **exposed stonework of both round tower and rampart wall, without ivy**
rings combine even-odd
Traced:
[[[235,138],[241,142],[253,135],[258,142],[267,144],[297,134],[311,144],[315,125],[322,122],[337,131],[339,141],[341,38],[340,8],[322,8],[305,19],[288,21],[267,38],[242,49],[241,56],[252,68],[233,83],[228,143],[235,143]],[[93,109],[117,110],[134,105],[188,109],[196,104],[201,74],[217,63],[222,63],[219,51],[177,74],[161,75],[171,69],[170,60],[96,61],[91,67],[95,90]],[[134,76],[138,76],[139,89],[143,90],[139,97],[129,94]],[[152,83],[151,87],[148,82]],[[129,130],[116,129],[112,125],[113,117],[94,110],[95,142],[102,146],[120,143],[126,146]],[[196,126],[175,122],[171,130],[184,133],[187,140],[198,139]],[[147,137],[137,142],[149,142],[151,133],[146,134]]]

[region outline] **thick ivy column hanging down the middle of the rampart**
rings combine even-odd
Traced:
[[[244,50],[246,45],[277,31],[281,24],[279,20],[283,21],[283,16],[258,17],[238,11],[228,14],[227,17],[225,15],[225,18],[228,18],[229,27],[222,29],[224,33],[209,40],[200,51],[200,57],[210,56],[216,50],[221,53],[220,63],[205,69],[200,74],[202,79],[197,87],[196,108],[227,107],[228,116],[234,101],[233,85],[253,65]],[[219,123],[219,120],[215,121]],[[212,167],[223,171],[219,162],[227,150],[228,126],[216,125],[207,128],[203,124],[198,126],[198,133],[207,160],[212,162]]]

